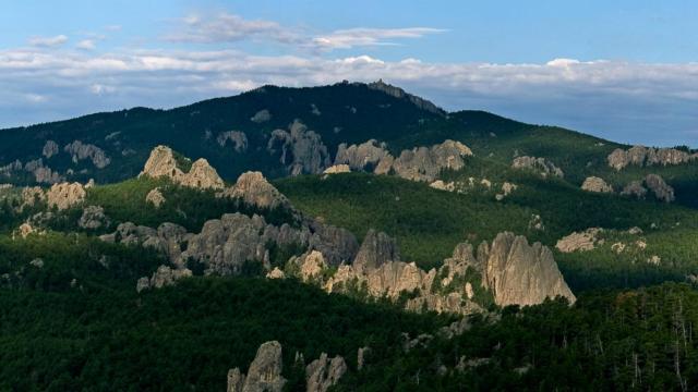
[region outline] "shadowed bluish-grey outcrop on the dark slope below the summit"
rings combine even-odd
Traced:
[[[327,147],[320,134],[294,121],[289,131],[272,132],[267,151],[279,158],[291,175],[318,174],[330,163]]]

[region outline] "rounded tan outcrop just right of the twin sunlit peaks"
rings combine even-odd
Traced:
[[[290,208],[290,201],[261,172],[242,173],[236,184],[219,194],[261,208]]]

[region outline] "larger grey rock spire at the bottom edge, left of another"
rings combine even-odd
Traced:
[[[263,343],[248,376],[239,368],[228,371],[228,392],[281,392],[286,384],[282,368],[281,344],[277,341]]]

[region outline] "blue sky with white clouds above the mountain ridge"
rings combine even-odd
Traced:
[[[616,142],[698,147],[698,2],[0,0],[0,127],[378,78]]]

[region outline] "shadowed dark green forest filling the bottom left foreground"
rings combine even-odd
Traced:
[[[308,360],[340,354],[356,367],[359,347],[387,356],[401,332],[444,322],[292,280],[192,278],[142,295],[134,285],[0,294],[2,390],[224,390],[228,369],[246,371],[265,341],[282,344],[289,377],[298,376],[297,351]]]

